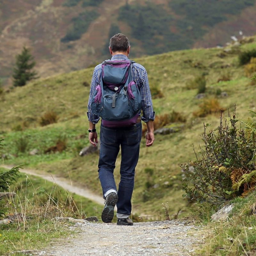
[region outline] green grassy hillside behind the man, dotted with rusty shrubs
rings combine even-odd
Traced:
[[[142,140],[133,194],[133,209],[136,213],[155,219],[164,219],[166,211],[172,215],[181,209],[180,216],[188,214],[190,206],[181,197],[182,172],[179,165],[195,159],[192,143],[198,152],[203,122],[211,124],[210,129],[214,130],[220,116],[220,111],[217,111],[216,114],[197,117],[200,104],[205,99],[213,99],[210,109],[214,112],[215,105],[219,104],[219,108],[225,109],[224,116],[228,116],[228,109],[232,112],[236,104],[236,114],[240,119],[247,118],[249,109],[255,110],[255,85],[245,76],[244,66],[238,64],[238,52],[256,48],[253,39],[250,41],[240,47],[233,47],[231,53],[217,48],[196,49],[136,60],[148,71],[149,84],[155,94],[153,104],[156,115],[161,119],[162,115],[170,115],[174,110],[186,119],[185,126],[179,132],[156,135],[151,148],[146,148],[145,140]],[[101,194],[97,154],[77,156],[79,150],[88,145],[85,112],[92,71],[93,68],[88,68],[39,79],[4,93],[0,126],[1,137],[6,144],[3,152],[7,154],[6,164],[26,163],[68,179],[70,175],[77,184]],[[196,77],[206,80],[205,99],[195,98],[198,92],[198,85],[194,81]],[[221,92],[226,92],[228,97],[222,97]],[[58,122],[40,127],[39,118],[49,110],[57,113]],[[44,154],[59,139],[65,141],[67,148],[61,153]],[[21,152],[20,145],[24,143],[26,146]],[[39,154],[30,156],[28,152],[34,148],[39,150]],[[116,163],[117,179],[119,166],[120,155]],[[153,169],[153,174],[148,168]]]

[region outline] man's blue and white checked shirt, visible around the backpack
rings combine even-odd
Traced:
[[[111,60],[128,60],[128,57],[123,54],[116,54],[114,55]],[[88,101],[88,112],[87,116],[89,121],[93,124],[97,124],[100,120],[99,116],[95,116],[92,113],[91,109],[91,101],[93,92],[96,89],[97,84],[100,84],[100,77],[101,77],[101,65],[99,64],[94,68],[93,75],[92,75],[92,84],[90,89],[90,96]],[[133,63],[131,66],[132,70],[132,80],[137,84],[141,94],[142,100],[142,112],[143,116],[141,120],[144,122],[148,122],[149,120],[155,119],[155,112],[153,111],[151,93],[148,84],[148,75],[146,69],[138,63]]]

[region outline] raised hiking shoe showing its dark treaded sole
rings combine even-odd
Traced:
[[[114,208],[117,203],[118,196],[112,192],[106,197],[105,206],[101,213],[101,220],[105,223],[110,223],[114,218]]]

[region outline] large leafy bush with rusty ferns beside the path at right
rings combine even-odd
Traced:
[[[229,114],[223,124],[221,116],[216,133],[207,134],[209,124],[204,124],[202,158],[199,160],[195,153],[193,171],[189,164],[182,165],[185,172],[182,189],[186,192],[183,197],[189,202],[221,204],[252,191],[256,184],[255,117],[256,112],[251,111],[251,118],[244,123],[236,119],[236,113]]]

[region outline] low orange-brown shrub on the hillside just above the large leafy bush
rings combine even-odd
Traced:
[[[224,108],[220,107],[220,103],[217,99],[205,99],[200,105],[199,110],[194,112],[193,115],[197,117],[204,117],[209,114],[220,113]]]

